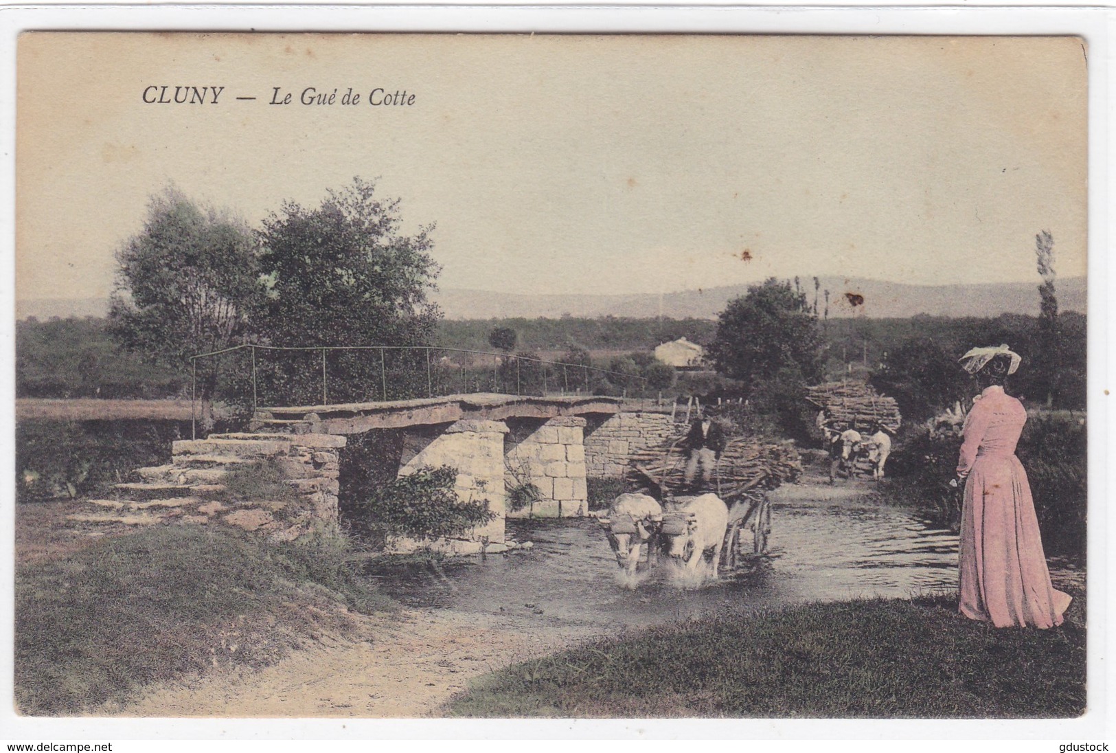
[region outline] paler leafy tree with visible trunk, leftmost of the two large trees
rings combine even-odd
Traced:
[[[109,305],[114,337],[153,362],[190,373],[191,355],[244,342],[263,288],[248,227],[170,187],[154,196],[143,230],[117,251]],[[196,361],[202,425],[212,426],[219,361]]]

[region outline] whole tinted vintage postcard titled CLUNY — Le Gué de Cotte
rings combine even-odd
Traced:
[[[1089,65],[23,32],[17,713],[1090,713]]]

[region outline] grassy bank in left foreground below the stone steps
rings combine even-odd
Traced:
[[[261,667],[324,632],[356,637],[353,612],[394,602],[344,540],[270,545],[200,526],[105,538],[16,573],[16,703],[77,714],[145,685],[215,667]]]

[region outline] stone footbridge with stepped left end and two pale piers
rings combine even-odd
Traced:
[[[147,525],[172,520],[224,523],[291,540],[337,522],[340,476],[355,468],[346,446],[375,447],[381,470],[404,476],[423,466],[458,469],[455,492],[484,499],[497,517],[466,536],[436,542],[395,540],[389,549],[431,545],[453,553],[499,552],[508,516],[570,517],[587,511],[587,478],[618,477],[627,458],[662,442],[671,417],[622,410],[607,397],[456,394],[417,400],[258,409],[247,433],[175,441],[172,463],[140,468],[140,480],[117,485],[115,499],[85,522]],[[355,448],[353,452],[357,451]],[[234,499],[224,485],[237,468],[275,464],[297,499]],[[507,488],[533,484],[540,498],[508,511]],[[264,494],[264,496],[267,496]],[[513,545],[513,544],[512,544]]]

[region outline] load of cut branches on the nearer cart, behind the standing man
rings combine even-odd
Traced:
[[[636,452],[628,461],[625,479],[633,488],[654,496],[662,492],[691,494],[685,484],[689,455],[673,437],[666,445]],[[758,496],[766,489],[796,480],[802,473],[798,450],[790,442],[760,442],[750,437],[733,437],[716,461],[713,478],[702,490],[716,493],[732,503],[745,496]]]

